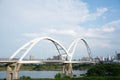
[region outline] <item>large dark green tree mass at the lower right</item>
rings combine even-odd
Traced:
[[[96,64],[87,71],[87,76],[120,76],[120,65]]]

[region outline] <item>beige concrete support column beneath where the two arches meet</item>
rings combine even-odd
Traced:
[[[72,77],[73,75],[72,63],[63,63],[62,74],[63,76],[69,75]]]

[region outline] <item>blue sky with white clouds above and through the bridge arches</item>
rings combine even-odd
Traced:
[[[46,36],[66,49],[73,40],[85,39],[94,57],[113,56],[120,52],[119,13],[120,0],[0,0],[0,58],[8,58],[26,42]],[[56,53],[49,41],[37,46],[30,52],[35,57]],[[80,41],[75,59],[85,52]]]

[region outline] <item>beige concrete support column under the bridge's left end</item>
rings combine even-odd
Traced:
[[[21,64],[19,63],[15,63],[7,66],[7,80],[18,79],[20,66]]]

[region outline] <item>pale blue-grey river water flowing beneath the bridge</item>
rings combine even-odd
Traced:
[[[19,71],[19,77],[30,76],[31,78],[54,78],[57,73],[61,71]],[[86,73],[86,71],[74,70],[74,74],[79,76]],[[0,79],[6,78],[6,71],[0,71]]]

